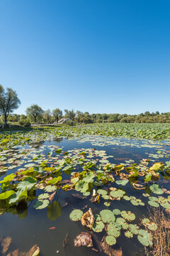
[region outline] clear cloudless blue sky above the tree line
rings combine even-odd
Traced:
[[[170,112],[170,1],[1,0],[0,84],[18,114]]]

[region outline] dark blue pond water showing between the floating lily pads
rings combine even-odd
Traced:
[[[56,153],[55,151],[57,149],[62,149],[62,151]],[[103,183],[103,186],[99,186],[99,184],[95,186],[94,183],[93,188],[90,187],[87,191],[83,191],[84,193],[81,193],[82,191],[79,188],[64,191],[62,186],[69,183],[68,180],[70,179],[68,168],[67,171],[64,171],[62,174],[62,181],[64,181],[64,183],[58,187],[57,193],[46,208],[37,209],[34,207],[37,201],[36,197],[41,193],[52,194],[54,191],[48,192],[38,188],[33,191],[35,199],[32,201],[30,200],[25,203],[21,201],[16,204],[15,207],[7,207],[6,209],[4,208],[4,204],[0,203],[1,213],[4,213],[0,215],[0,237],[11,237],[11,245],[4,255],[8,255],[8,252],[13,252],[17,248],[22,252],[27,252],[33,245],[40,247],[40,255],[43,256],[106,255],[105,252],[100,252],[100,242],[103,236],[106,235],[105,229],[100,233],[90,231],[94,247],[98,252],[88,247],[74,247],[74,238],[81,232],[89,231],[81,225],[81,221],[71,220],[69,218],[70,213],[72,213],[74,209],[82,210],[83,213],[85,213],[89,208],[91,208],[94,215],[99,214],[103,209],[130,211],[135,213],[135,220],[132,220],[131,223],[137,224],[140,228],[145,230],[145,227],[141,225],[141,219],[149,217],[148,208],[152,209],[152,206],[149,205],[148,201],[151,201],[151,199],[155,201],[154,198],[148,199],[148,197],[153,196],[158,198],[159,196],[163,196],[164,198],[168,198],[169,196],[168,193],[163,193],[163,191],[153,193],[149,189],[149,186],[155,183],[159,185],[160,189],[165,188],[169,190],[168,171],[162,169],[159,171],[159,177],[152,177],[151,181],[145,182],[145,177],[143,176],[132,176],[127,179],[127,176],[120,176],[119,171],[111,170],[114,166],[122,165],[124,166],[123,168],[125,168],[132,166],[132,164],[136,164],[141,170],[149,169],[155,162],[165,163],[169,161],[169,150],[170,147],[167,146],[166,142],[94,136],[81,137],[79,139],[48,139],[30,145],[15,146],[9,151],[2,151],[1,156],[6,156],[6,159],[2,159],[1,163],[7,166],[8,170],[0,173],[1,181],[5,176],[13,174],[15,171],[26,170],[31,168],[31,166],[40,166],[43,161],[47,162],[47,166],[62,166],[63,169],[65,165],[63,165],[62,161],[63,159],[68,159],[68,157],[71,159],[73,157],[72,162],[69,163],[70,169],[72,167],[72,172],[80,172],[83,170],[83,167],[77,163],[75,164],[77,157],[78,159],[85,159],[85,163],[91,163],[92,161],[92,163],[96,164],[98,169],[96,166],[93,168],[89,167],[88,169],[90,171],[93,170],[95,174],[98,170],[100,173],[100,170],[103,170],[106,164],[108,164],[110,165],[108,173],[112,174],[112,178],[115,178],[115,181],[122,181],[125,178],[128,182],[125,186],[113,181],[107,181]],[[63,151],[67,151],[67,154],[62,154]],[[79,154],[82,153],[82,151],[85,153]],[[142,159],[145,160],[142,161]],[[150,161],[147,162],[146,159],[150,159]],[[125,173],[125,170],[123,170],[122,173]],[[92,177],[92,180],[94,182],[96,178]],[[137,187],[132,186],[134,183],[140,184],[142,187],[145,186],[145,189],[136,189]],[[113,198],[107,200],[101,195],[100,203],[92,203],[89,201],[93,194],[93,189],[97,191],[98,188],[101,188],[109,193],[108,189],[113,187],[125,191],[124,196],[133,196],[134,198],[126,198],[127,200],[125,200],[123,196],[121,196],[120,198],[116,198],[118,200],[113,200]],[[111,191],[112,190],[110,190],[110,192]],[[137,205],[137,203],[135,203],[137,202],[136,199],[140,199],[139,202],[143,204],[140,205],[138,202]],[[1,201],[2,200],[0,200],[0,202]],[[159,203],[160,202],[159,200]],[[50,208],[50,205],[52,205],[53,208]],[[160,207],[164,209],[162,206]],[[115,217],[119,218],[121,215]],[[120,236],[116,238],[116,244],[113,245],[113,248],[121,247],[123,255],[125,256],[145,255],[145,247],[137,239],[137,235],[133,235],[133,238],[128,238],[125,235],[125,231],[126,230],[120,231]],[[66,235],[68,235],[67,242],[65,241],[66,244],[63,246]]]

